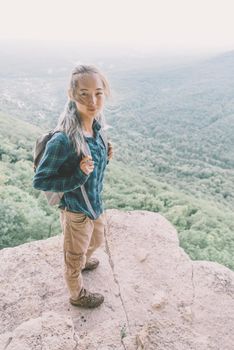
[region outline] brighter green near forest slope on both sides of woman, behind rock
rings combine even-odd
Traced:
[[[58,210],[32,188],[32,149],[42,130],[3,114],[0,130],[0,247],[59,234]],[[107,170],[104,202],[106,209],[161,213],[176,227],[180,245],[192,259],[234,268],[234,215],[224,204],[183,193],[118,159]]]

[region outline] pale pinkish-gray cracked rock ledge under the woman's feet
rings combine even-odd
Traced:
[[[0,350],[233,350],[234,273],[192,261],[160,214],[106,212],[100,265],[69,304],[62,235],[0,251]]]

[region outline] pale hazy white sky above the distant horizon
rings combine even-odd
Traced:
[[[0,0],[0,39],[234,49],[234,0]]]

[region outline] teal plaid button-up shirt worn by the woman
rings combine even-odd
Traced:
[[[45,152],[33,178],[33,187],[42,191],[64,192],[59,208],[85,213],[96,219],[103,212],[102,189],[108,163],[107,150],[99,134],[101,125],[94,120],[94,137],[85,137],[94,161],[94,170],[86,175],[68,136],[58,132],[47,142]],[[96,217],[87,208],[80,186],[84,185]]]

